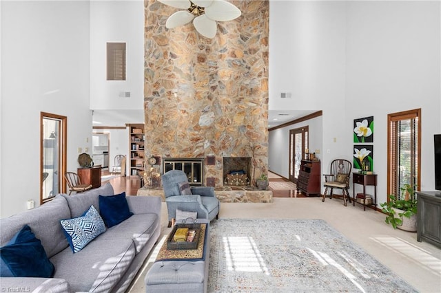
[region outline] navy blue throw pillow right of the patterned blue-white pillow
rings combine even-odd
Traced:
[[[132,217],[125,192],[119,195],[99,196],[99,210],[105,226],[108,228],[118,225],[125,219]]]

